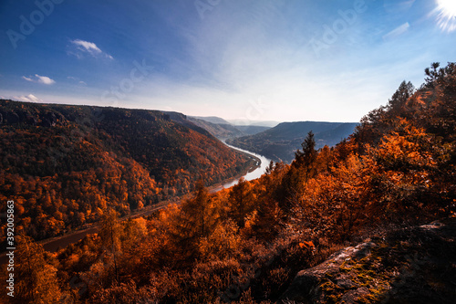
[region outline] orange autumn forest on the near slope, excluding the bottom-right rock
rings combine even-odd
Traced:
[[[257,180],[215,194],[200,181],[192,197],[146,219],[105,212],[97,235],[55,254],[27,246],[39,258],[27,276],[55,274],[29,289],[68,303],[272,303],[299,270],[342,246],[455,217],[456,65],[432,64],[426,75],[419,89],[401,83],[334,148],[316,150],[309,132],[294,162],[271,162]],[[26,274],[26,260],[18,267]],[[366,302],[386,298],[387,289],[362,283],[376,288]]]

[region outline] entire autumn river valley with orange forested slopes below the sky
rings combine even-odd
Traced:
[[[236,152],[177,112],[96,121],[90,107],[0,100],[19,302],[30,288],[49,303],[453,302],[456,67],[425,72],[359,124],[250,135],[307,131],[291,163]]]

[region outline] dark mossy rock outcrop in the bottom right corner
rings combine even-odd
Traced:
[[[283,303],[456,303],[456,219],[390,232],[300,271]]]

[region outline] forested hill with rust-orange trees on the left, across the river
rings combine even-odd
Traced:
[[[178,120],[179,118],[179,120]],[[44,238],[220,182],[249,165],[179,113],[0,100],[0,199]],[[5,204],[2,204],[5,212]]]

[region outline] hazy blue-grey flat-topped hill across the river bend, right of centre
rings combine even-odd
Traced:
[[[292,162],[309,131],[315,134],[316,148],[334,146],[347,138],[358,123],[298,121],[282,122],[272,129],[227,141],[233,146],[264,155],[275,162]]]

